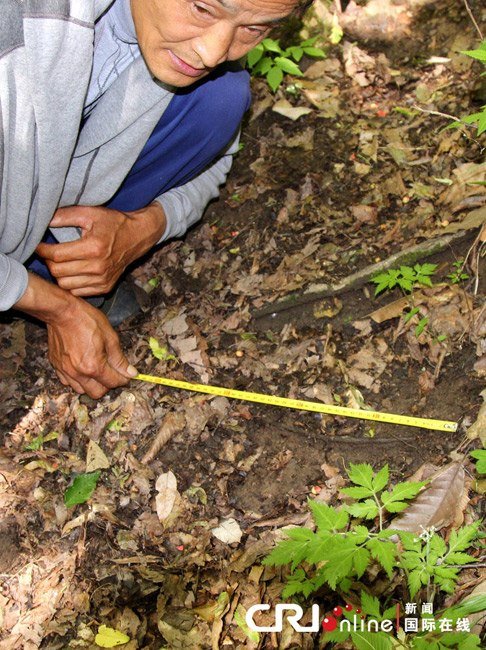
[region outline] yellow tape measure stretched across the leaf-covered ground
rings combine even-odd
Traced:
[[[407,427],[435,429],[436,431],[457,431],[457,422],[449,422],[447,420],[429,420],[428,418],[415,418],[410,415],[396,415],[394,413],[382,413],[380,411],[351,409],[345,406],[319,404],[317,402],[307,402],[300,399],[289,399],[288,397],[275,397],[263,393],[250,393],[246,390],[234,390],[233,388],[208,386],[206,384],[192,384],[188,381],[166,379],[165,377],[154,377],[152,375],[137,375],[135,379],[152,384],[162,384],[162,386],[170,386],[171,388],[190,390],[196,393],[220,395],[221,397],[228,397],[230,399],[241,399],[247,402],[258,402],[259,404],[268,404],[270,406],[283,406],[285,408],[298,409],[300,411],[314,411],[314,413],[341,415],[346,418],[357,418],[358,420],[373,420],[373,422],[389,422],[391,424],[402,424]]]

